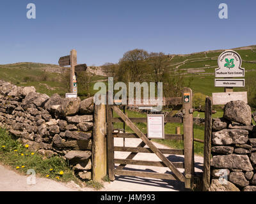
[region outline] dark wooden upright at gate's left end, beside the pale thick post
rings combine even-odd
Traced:
[[[109,95],[109,94],[108,94]],[[107,96],[107,100],[108,96]],[[114,175],[114,139],[113,139],[113,124],[112,124],[112,117],[113,117],[113,112],[111,110],[111,105],[108,104],[106,105],[106,112],[107,112],[107,124],[108,124],[108,138],[107,138],[107,153],[108,153],[108,177],[109,180],[113,181],[115,180],[115,175]]]

